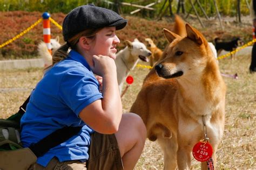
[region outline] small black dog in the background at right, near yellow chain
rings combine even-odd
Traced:
[[[237,49],[237,47],[244,45],[244,42],[239,37],[231,41],[220,41],[220,38],[215,38],[214,41],[215,41],[215,48],[218,53],[218,56],[222,50],[232,52],[235,49]],[[232,54],[231,54],[231,59],[233,60]]]

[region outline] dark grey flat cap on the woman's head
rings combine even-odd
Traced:
[[[126,24],[127,20],[116,12],[89,4],[78,6],[66,15],[62,24],[62,34],[64,41],[67,41],[86,29],[115,26],[116,30],[121,30]]]

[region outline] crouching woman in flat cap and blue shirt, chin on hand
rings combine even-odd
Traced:
[[[136,114],[122,114],[114,63],[120,42],[116,30],[126,24],[116,12],[91,4],[65,17],[66,44],[53,54],[52,66],[31,93],[21,120],[22,143],[28,147],[64,126],[83,128],[39,157],[30,169],[133,169],[136,165],[146,129]]]

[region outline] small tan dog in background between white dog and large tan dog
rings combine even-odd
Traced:
[[[152,67],[154,63],[156,63],[160,59],[163,51],[161,51],[161,49],[159,49],[156,44],[154,44],[151,38],[145,38],[145,41],[147,42],[147,49],[149,49],[152,53],[150,56],[150,66]]]

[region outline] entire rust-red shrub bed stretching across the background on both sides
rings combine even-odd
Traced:
[[[26,11],[11,11],[11,12],[0,12],[0,45],[9,39],[14,38],[17,34],[26,30],[29,26],[35,23],[42,17],[41,12],[26,12]],[[54,19],[59,25],[62,25],[65,17],[64,13],[50,13],[51,18]],[[125,47],[124,40],[133,41],[134,38],[138,38],[140,41],[145,42],[145,38],[151,38],[155,44],[164,49],[167,41],[163,34],[163,28],[172,30],[173,22],[170,18],[167,21],[147,20],[139,17],[123,16],[128,20],[128,25],[125,29],[117,31],[121,43],[118,49]],[[208,25],[202,29],[200,24],[195,23],[197,19],[191,19],[190,22],[193,26],[196,26],[208,41],[213,41],[214,37],[221,37],[230,39],[235,35],[245,39],[251,38],[251,26],[246,25],[242,28],[241,26],[235,26],[230,29],[227,26],[225,31],[219,31],[215,23]],[[51,23],[51,37],[60,37],[60,43],[63,43],[62,31]],[[11,44],[0,48],[0,60],[8,59],[20,59],[20,58],[36,58],[37,57],[37,44],[43,41],[43,24],[39,23],[24,36],[16,39]],[[245,40],[246,41],[246,40]]]

